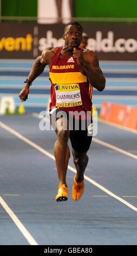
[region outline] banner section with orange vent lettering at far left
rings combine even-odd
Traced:
[[[34,26],[31,23],[0,23],[0,31],[1,58],[33,58]]]

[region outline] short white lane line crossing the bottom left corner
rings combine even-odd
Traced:
[[[5,209],[5,211],[9,214],[12,221],[17,225],[18,229],[21,231],[21,233],[24,235],[25,239],[30,243],[30,245],[38,245],[38,243],[35,241],[35,239],[30,235],[28,230],[24,227],[24,225],[21,223],[21,221],[18,220],[17,216],[14,214],[14,212],[9,208],[9,206],[5,203],[3,198],[0,196],[0,203]]]

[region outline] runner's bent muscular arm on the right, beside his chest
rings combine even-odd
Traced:
[[[77,57],[77,60],[84,69],[90,84],[101,92],[105,88],[106,80],[99,67],[99,60],[96,54],[93,51],[86,51],[83,53],[78,52],[79,50],[76,51],[77,56],[74,51],[74,57]]]

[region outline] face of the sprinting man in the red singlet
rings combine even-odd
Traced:
[[[64,34],[63,39],[65,46],[68,46],[69,50],[73,50],[74,47],[79,48],[82,41],[82,29],[77,25],[69,25]]]

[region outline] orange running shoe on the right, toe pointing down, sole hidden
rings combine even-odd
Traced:
[[[76,175],[75,175],[76,177]],[[84,192],[84,178],[81,182],[77,182],[74,177],[74,185],[72,188],[72,197],[75,201],[79,200]]]

